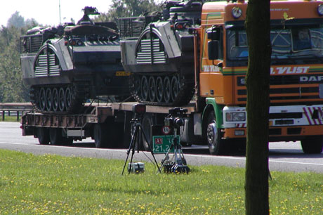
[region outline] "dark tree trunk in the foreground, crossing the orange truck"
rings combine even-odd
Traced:
[[[270,82],[270,0],[249,0],[246,146],[246,214],[269,214],[268,126]]]

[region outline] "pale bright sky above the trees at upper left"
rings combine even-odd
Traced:
[[[56,26],[60,24],[60,18],[62,23],[70,22],[71,18],[75,21],[81,19],[84,14],[81,9],[85,6],[93,6],[100,13],[106,13],[111,4],[111,0],[2,0],[0,26],[6,26],[15,11],[25,20],[34,18],[39,24]]]

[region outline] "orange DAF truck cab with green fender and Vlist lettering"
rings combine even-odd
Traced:
[[[230,140],[245,143],[246,8],[244,1],[204,3],[195,29],[195,72],[205,98],[200,134],[211,154]],[[270,141],[301,141],[303,152],[321,153],[323,2],[271,1],[270,19]]]

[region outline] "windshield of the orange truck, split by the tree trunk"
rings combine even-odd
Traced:
[[[246,61],[248,46],[245,30],[228,30],[228,60]],[[272,64],[322,63],[323,27],[272,29]],[[308,62],[307,62],[308,61]]]

